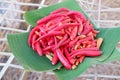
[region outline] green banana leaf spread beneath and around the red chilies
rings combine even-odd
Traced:
[[[25,13],[24,18],[27,23],[34,27],[38,19],[49,15],[51,11],[60,7],[80,11],[86,16],[86,18],[89,19],[88,15],[75,0],[66,0],[56,5],[29,11]],[[91,23],[93,23],[92,20]],[[93,25],[94,28],[97,29],[97,26],[94,23]],[[99,28],[98,30],[100,33],[97,37],[104,38],[104,42],[101,46],[102,56],[91,58],[86,57],[83,63],[81,63],[75,70],[66,70],[65,68],[58,70],[57,68],[61,65],[60,63],[52,66],[51,62],[45,56],[38,56],[37,53],[27,44],[29,32],[22,34],[10,34],[7,36],[7,39],[13,54],[25,70],[53,70],[59,80],[72,80],[86,71],[93,64],[103,64],[120,59],[120,52],[116,49],[116,45],[120,40],[120,36],[117,36],[120,33],[120,28]]]

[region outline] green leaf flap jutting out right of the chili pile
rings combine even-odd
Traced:
[[[99,31],[97,38],[102,37],[104,39],[100,49],[103,54],[95,59],[104,61],[112,55],[114,48],[120,40],[120,36],[117,36],[120,33],[120,28],[100,28]]]

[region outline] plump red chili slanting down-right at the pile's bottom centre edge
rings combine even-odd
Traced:
[[[60,60],[60,62],[63,64],[63,66],[70,70],[71,69],[71,65],[69,63],[69,61],[65,58],[65,56],[63,55],[63,53],[61,52],[61,50],[59,48],[57,48],[56,50],[58,59]]]

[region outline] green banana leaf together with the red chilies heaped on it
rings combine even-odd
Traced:
[[[32,25],[31,31],[9,34],[7,39],[13,54],[26,71],[53,70],[59,80],[72,80],[93,64],[119,60],[116,45],[120,36],[116,35],[120,28],[97,28],[75,0],[32,10],[24,17]],[[52,57],[52,63],[44,55]],[[77,68],[71,70],[76,65]]]

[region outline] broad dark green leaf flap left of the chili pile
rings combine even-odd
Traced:
[[[28,33],[8,35],[9,46],[18,62],[28,71],[54,70],[60,66],[53,66],[45,56],[39,56],[28,46]]]

